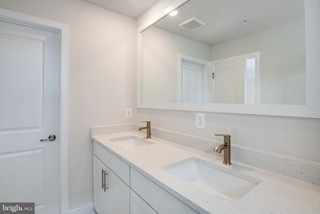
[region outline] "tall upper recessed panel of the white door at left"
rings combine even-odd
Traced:
[[[0,34],[1,131],[42,128],[43,42]]]

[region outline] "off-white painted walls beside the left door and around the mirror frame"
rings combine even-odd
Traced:
[[[137,109],[136,117],[125,119],[124,108],[135,113],[134,20],[79,0],[0,0],[0,7],[70,27],[70,210],[93,199],[90,126],[151,120],[155,127],[212,139],[230,133],[238,145],[320,161],[320,119],[205,113],[204,130],[194,127],[195,112],[189,111]],[[137,26],[157,11],[151,8]]]

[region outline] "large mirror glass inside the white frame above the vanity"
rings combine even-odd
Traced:
[[[141,32],[141,103],[305,104],[303,0],[190,0]]]

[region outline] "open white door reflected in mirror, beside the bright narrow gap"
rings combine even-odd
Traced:
[[[214,64],[214,103],[244,103],[244,55]]]

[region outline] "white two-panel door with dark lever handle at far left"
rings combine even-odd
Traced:
[[[0,201],[34,202],[37,214],[59,213],[58,41],[0,21]]]

